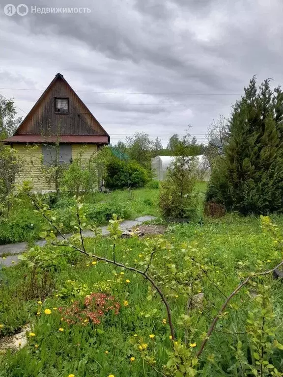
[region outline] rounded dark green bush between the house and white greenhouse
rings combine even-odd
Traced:
[[[138,162],[124,162],[113,158],[107,164],[107,188],[117,189],[128,187],[128,181],[132,188],[143,187],[148,181],[148,172]]]

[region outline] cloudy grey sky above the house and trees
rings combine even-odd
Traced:
[[[21,116],[60,72],[113,144],[144,132],[166,146],[189,125],[205,142],[254,75],[283,83],[282,0],[24,1],[6,15],[0,0],[0,94]]]

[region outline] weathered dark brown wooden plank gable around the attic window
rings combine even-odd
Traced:
[[[55,98],[69,99],[69,113],[55,113]],[[58,130],[59,128],[59,130]],[[88,108],[60,76],[29,112],[15,135],[108,135]]]

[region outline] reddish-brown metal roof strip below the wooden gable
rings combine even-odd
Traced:
[[[4,143],[52,143],[57,141],[57,136],[50,135],[14,135],[1,140]],[[60,135],[60,143],[103,143],[108,144],[108,136],[102,135]]]

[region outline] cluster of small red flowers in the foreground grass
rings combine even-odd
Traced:
[[[62,314],[62,321],[68,324],[82,323],[86,325],[89,321],[94,324],[101,322],[107,312],[113,310],[117,315],[120,311],[120,304],[115,301],[114,296],[104,293],[92,293],[85,297],[84,308],[80,308],[79,301],[75,301],[69,308],[58,308]]]

